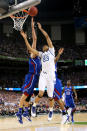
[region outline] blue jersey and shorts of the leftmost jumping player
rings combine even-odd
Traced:
[[[29,73],[25,76],[22,91],[26,96],[32,95],[35,85],[38,82],[41,70],[41,60],[39,57],[29,58]]]

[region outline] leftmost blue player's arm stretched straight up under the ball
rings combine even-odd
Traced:
[[[32,48],[36,49],[37,36],[36,36],[35,29],[34,29],[34,19],[33,19],[33,17],[31,19],[31,27],[32,27],[32,39],[33,39]]]

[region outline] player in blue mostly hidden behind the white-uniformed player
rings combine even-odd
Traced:
[[[56,75],[56,84],[54,86],[54,100],[57,101],[57,103],[59,104],[61,110],[62,110],[62,121],[61,124],[65,124],[68,116],[66,113],[66,109],[64,107],[64,102],[62,101],[62,82],[61,80],[57,77],[57,62],[61,56],[61,54],[63,53],[64,48],[60,48],[58,51],[57,56],[55,57],[55,75]]]

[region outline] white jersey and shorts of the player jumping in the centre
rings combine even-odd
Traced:
[[[55,50],[49,48],[46,52],[39,52],[42,62],[42,71],[39,79],[39,90],[45,91],[47,87],[47,93],[49,97],[53,97],[54,82],[55,82]]]

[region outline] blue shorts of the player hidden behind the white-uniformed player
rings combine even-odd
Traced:
[[[62,99],[62,83],[61,80],[56,78],[56,84],[54,87],[54,99],[60,100]]]

